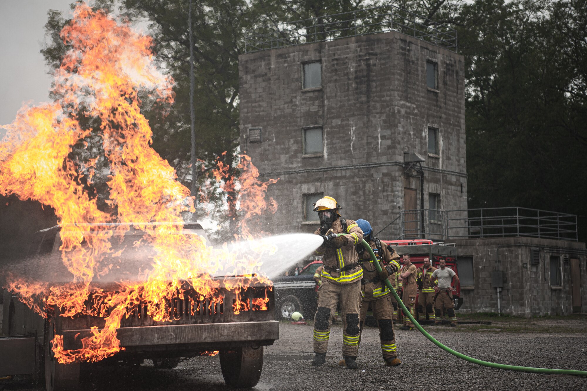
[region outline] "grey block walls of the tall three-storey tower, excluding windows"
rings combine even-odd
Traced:
[[[302,64],[321,61],[322,87],[302,90]],[[438,90],[426,85],[426,63],[438,64]],[[424,208],[440,194],[444,210],[467,208],[463,56],[397,32],[284,47],[239,57],[241,151],[279,203],[270,232],[313,231],[303,195],[323,192],[348,218],[376,231],[404,209],[404,152],[424,157]],[[302,157],[302,129],[322,126],[321,156]],[[428,126],[439,129],[440,155],[427,152]],[[248,139],[262,128],[262,142]],[[400,232],[390,232],[396,236]],[[382,239],[394,239],[385,237]]]

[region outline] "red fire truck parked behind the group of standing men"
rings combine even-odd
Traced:
[[[382,242],[389,244],[393,249],[400,255],[409,254],[411,257],[411,263],[420,267],[424,263],[424,258],[429,258],[430,263],[434,267],[440,267],[439,262],[441,259],[446,260],[446,266],[450,267],[457,273],[457,249],[454,246],[446,245],[444,243],[434,243],[428,239],[408,239],[401,241],[386,241]],[[461,297],[460,284],[453,282],[453,298],[454,298],[454,309],[463,305],[463,298]],[[418,300],[416,298],[416,308],[418,306]],[[416,312],[417,318],[417,312]]]

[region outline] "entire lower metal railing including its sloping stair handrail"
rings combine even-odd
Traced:
[[[561,241],[578,239],[576,215],[520,207],[406,210],[375,236],[435,241],[515,236]]]

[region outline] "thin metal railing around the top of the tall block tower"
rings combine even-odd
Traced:
[[[245,31],[245,53],[398,31],[457,52],[457,30],[394,5],[274,23]]]

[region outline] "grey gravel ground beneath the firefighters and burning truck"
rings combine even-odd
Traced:
[[[545,320],[545,322],[549,322]],[[566,321],[562,321],[564,324]],[[559,321],[560,323],[560,321]],[[443,326],[427,330],[439,341],[475,358],[499,363],[544,368],[587,370],[587,317],[568,321],[582,332],[524,333],[471,330]],[[312,368],[311,325],[280,324],[280,337],[265,347],[265,362],[258,390],[566,390],[587,389],[587,378],[538,375],[484,368],[441,351],[420,332],[397,330],[403,364],[384,366],[376,328],[363,332],[358,371],[338,366],[342,358],[342,328],[330,334],[326,364]],[[39,390],[26,378],[0,382],[0,389]],[[138,369],[96,368],[82,389],[90,390],[220,390],[225,389],[218,357],[193,358],[171,370],[149,364]]]

